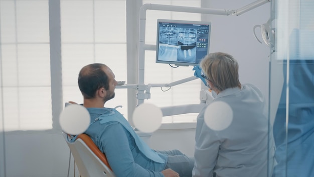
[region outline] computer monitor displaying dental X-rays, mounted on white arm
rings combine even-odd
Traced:
[[[156,63],[198,65],[209,52],[211,22],[157,20]]]

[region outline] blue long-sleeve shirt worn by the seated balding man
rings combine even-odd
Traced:
[[[165,169],[167,155],[155,152],[164,163],[155,162],[147,158],[138,148],[134,137],[118,121],[95,121],[101,116],[102,119],[112,116],[122,116],[117,111],[116,114],[108,114],[109,108],[88,108],[92,123],[86,130],[91,139],[101,152],[106,154],[108,162],[117,177],[119,176],[164,176],[161,172]],[[108,116],[103,116],[107,114]],[[127,124],[131,128],[129,124]],[[137,135],[136,135],[137,136]]]

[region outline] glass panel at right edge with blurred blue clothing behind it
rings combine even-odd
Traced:
[[[276,1],[270,62],[273,176],[314,175],[314,2]]]

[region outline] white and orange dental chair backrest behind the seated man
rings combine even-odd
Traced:
[[[74,142],[69,142],[68,135],[63,134],[82,177],[115,177],[105,154],[88,135],[80,134]]]

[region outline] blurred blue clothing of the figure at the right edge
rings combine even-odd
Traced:
[[[278,164],[272,176],[314,176],[314,31],[293,29],[289,41],[289,62],[279,58],[283,85],[273,125]]]

